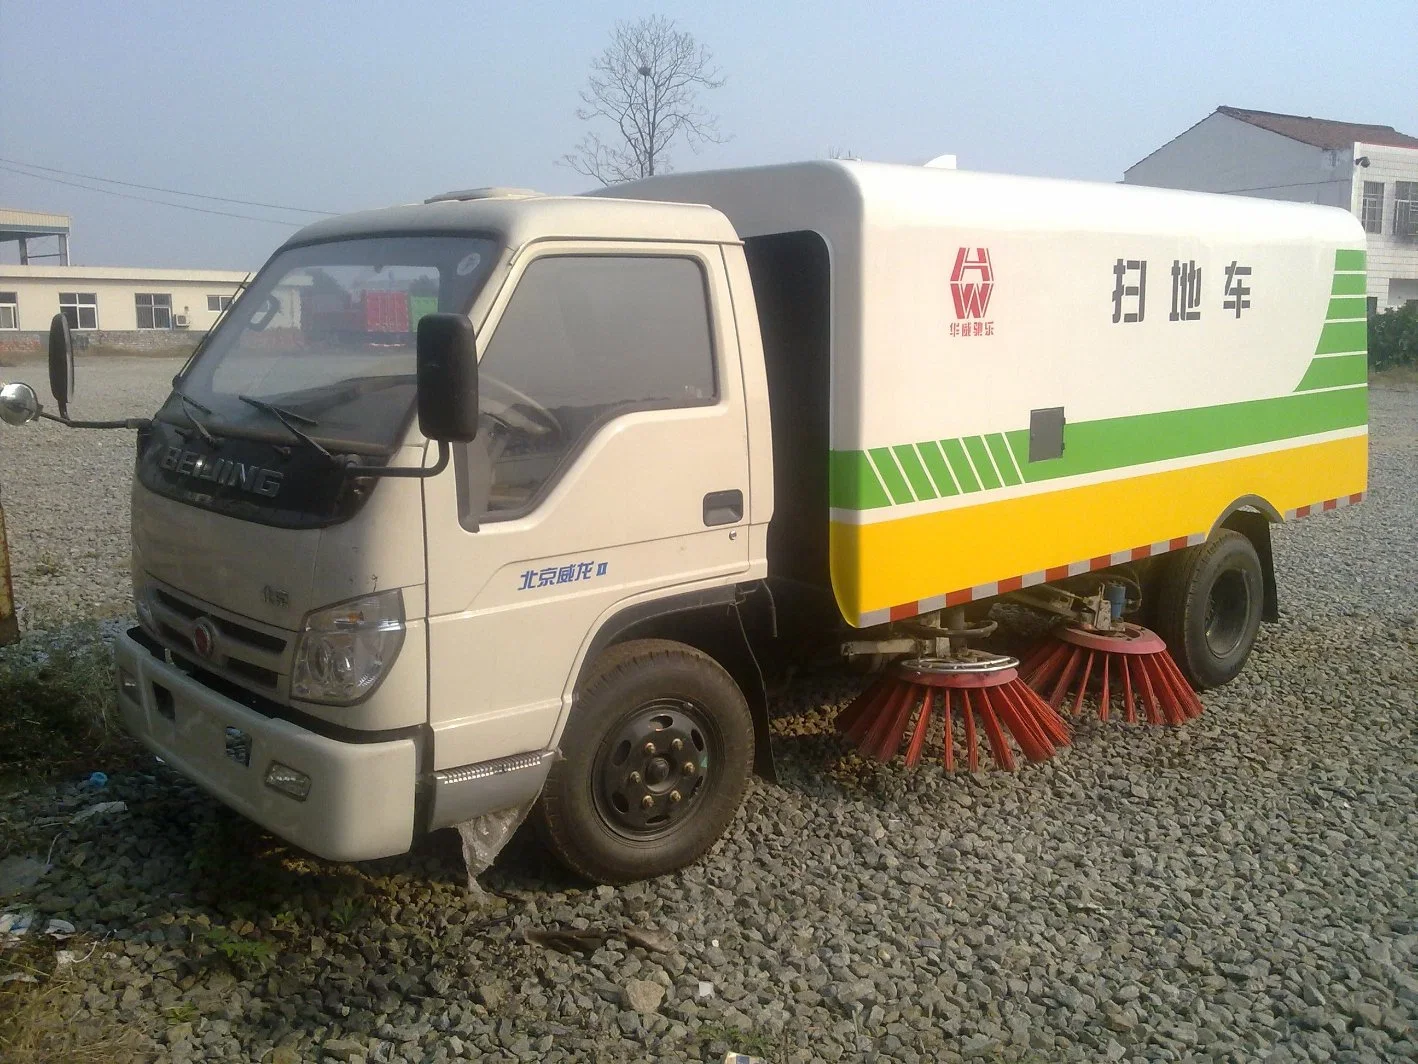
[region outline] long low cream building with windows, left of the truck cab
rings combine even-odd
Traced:
[[[0,264],[0,339],[48,331],[60,312],[75,332],[105,340],[118,339],[113,333],[206,332],[245,279],[240,270]]]

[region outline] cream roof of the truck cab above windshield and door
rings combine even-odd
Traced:
[[[484,190],[478,190],[482,193]],[[475,196],[465,199],[465,196]],[[450,193],[428,203],[342,214],[306,226],[284,247],[379,235],[491,233],[508,247],[556,237],[736,244],[713,207],[586,196]]]

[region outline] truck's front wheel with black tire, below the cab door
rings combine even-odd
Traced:
[[[733,820],[753,718],[708,654],[669,640],[607,650],[577,691],[532,814],[571,871],[620,884],[693,863]]]

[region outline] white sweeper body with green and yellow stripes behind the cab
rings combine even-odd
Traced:
[[[1241,499],[1279,518],[1364,491],[1364,234],[1344,211],[842,162],[600,194],[706,203],[750,247],[822,240],[854,624],[1200,542]]]

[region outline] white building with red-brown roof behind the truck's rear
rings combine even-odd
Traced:
[[[1368,231],[1370,314],[1418,299],[1418,138],[1392,126],[1222,106],[1123,180],[1344,207]]]

